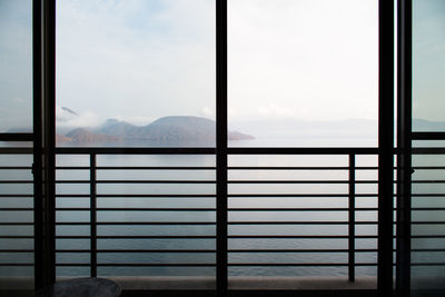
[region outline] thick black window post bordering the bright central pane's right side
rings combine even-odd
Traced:
[[[378,296],[393,294],[394,1],[378,3]]]

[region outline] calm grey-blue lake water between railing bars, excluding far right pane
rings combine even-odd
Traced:
[[[7,162],[29,164],[30,158],[23,156],[10,156],[2,159]],[[347,156],[230,156],[229,166],[347,166]],[[88,156],[58,156],[58,166],[89,166]],[[214,167],[215,156],[98,156],[99,167],[122,166],[198,166]],[[357,166],[376,166],[375,156],[358,156]],[[2,172],[2,179],[20,179],[23,175],[31,178],[30,174],[22,170],[9,170]],[[357,179],[376,179],[375,170],[357,170]],[[102,182],[97,186],[97,194],[107,195],[209,195],[210,197],[169,197],[169,198],[109,198],[97,199],[98,208],[162,208],[165,211],[138,211],[138,210],[100,210],[97,219],[99,222],[119,221],[198,221],[215,222],[214,210],[176,211],[168,208],[210,208],[216,207],[215,184],[123,184],[121,180],[208,180],[214,181],[215,170],[103,170],[97,171],[99,181],[113,180],[116,182]],[[347,180],[347,170],[230,170],[229,180]],[[58,170],[57,179],[62,181],[57,185],[57,194],[67,197],[57,199],[58,208],[86,208],[77,211],[57,211],[58,222],[89,222],[89,197],[79,198],[70,195],[89,195],[89,170]],[[72,184],[72,181],[76,182]],[[63,182],[69,181],[69,182]],[[77,182],[79,181],[79,182]],[[30,185],[1,185],[2,192],[30,192]],[[229,195],[241,194],[339,194],[348,192],[348,186],[344,184],[230,184]],[[356,187],[357,194],[375,194],[376,185],[360,184]],[[2,199],[2,206],[31,207],[31,199]],[[376,207],[376,197],[357,198],[356,207]],[[258,208],[347,208],[346,197],[298,197],[298,198],[259,198],[259,197],[233,197],[229,198],[229,207],[257,208],[257,211],[229,211],[229,221],[347,221],[347,211],[258,211]],[[356,219],[376,220],[375,211],[357,211]],[[30,211],[2,211],[2,221],[32,221]],[[28,226],[1,227],[2,234],[30,235],[32,229]],[[58,226],[58,236],[88,236],[89,226]],[[215,236],[214,225],[99,225],[98,236]],[[256,236],[256,235],[328,235],[346,236],[347,225],[231,225],[229,236]],[[356,235],[376,235],[375,225],[358,225]],[[32,248],[30,239],[8,239],[1,241],[1,248]],[[88,249],[89,239],[58,239],[58,249]],[[134,263],[134,264],[168,264],[168,263],[195,263],[214,264],[215,253],[131,253],[140,249],[215,249],[214,238],[205,239],[98,239],[99,249],[120,249],[126,253],[100,253],[98,263]],[[260,238],[231,238],[230,249],[346,249],[347,239],[260,239]],[[356,239],[356,248],[376,248],[375,239]],[[2,261],[32,261],[32,254],[0,255]],[[88,253],[58,253],[58,263],[89,263]],[[375,263],[376,253],[357,253],[357,263]],[[229,263],[347,263],[347,253],[230,253]],[[14,267],[12,270],[0,269],[6,274],[29,274],[31,269]],[[357,267],[357,275],[375,275],[375,267]],[[59,267],[59,275],[88,275],[88,267]],[[215,267],[99,267],[99,275],[215,275]],[[265,276],[340,276],[347,275],[347,267],[270,267],[270,266],[241,266],[230,267],[230,275],[265,275]]]

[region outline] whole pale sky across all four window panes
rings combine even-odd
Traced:
[[[229,122],[376,120],[377,2],[229,0]],[[441,120],[445,3],[414,2],[414,116]],[[30,8],[0,0],[3,130],[30,125]],[[215,0],[57,1],[59,125],[215,119]]]

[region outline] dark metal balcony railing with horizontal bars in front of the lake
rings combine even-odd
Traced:
[[[0,167],[0,269],[10,269],[8,276],[31,275],[31,150],[0,152],[8,156]],[[229,148],[229,277],[374,277],[377,154],[377,148]],[[7,174],[11,170],[17,178]],[[413,199],[425,195],[445,196],[415,192]],[[216,274],[212,148],[58,148],[56,199],[58,276]]]

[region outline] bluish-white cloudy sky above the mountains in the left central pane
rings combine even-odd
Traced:
[[[103,118],[215,102],[215,1],[58,1],[59,105]]]

